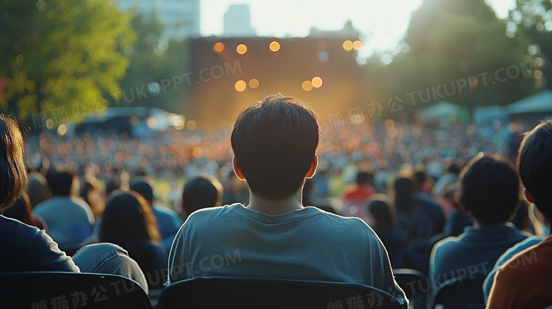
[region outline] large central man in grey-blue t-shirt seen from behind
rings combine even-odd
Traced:
[[[249,204],[191,214],[171,247],[168,282],[196,276],[340,281],[406,299],[364,221],[301,204],[305,178],[318,165],[319,132],[316,113],[296,98],[268,95],[246,107],[231,145]]]

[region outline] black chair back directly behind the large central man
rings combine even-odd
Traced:
[[[403,302],[362,284],[213,276],[168,285],[161,293],[158,309],[404,309]]]

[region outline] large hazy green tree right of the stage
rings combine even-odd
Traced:
[[[369,75],[409,112],[441,100],[466,107],[512,103],[536,86],[527,72],[534,68],[527,37],[507,37],[505,30],[484,0],[424,0],[412,15],[406,52],[388,66],[372,62]]]

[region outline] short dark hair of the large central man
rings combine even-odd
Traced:
[[[246,107],[231,144],[251,192],[267,199],[295,194],[311,168],[319,135],[316,112],[297,98],[268,95]]]

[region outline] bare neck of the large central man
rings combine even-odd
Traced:
[[[269,216],[286,214],[289,211],[304,208],[303,204],[301,204],[302,194],[303,190],[299,190],[296,194],[284,199],[265,199],[263,197],[255,196],[253,192],[249,190],[249,204],[247,209],[262,212],[263,214],[268,214]]]

